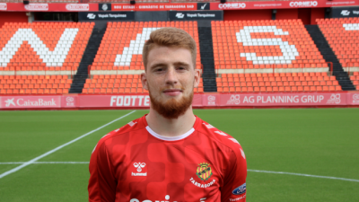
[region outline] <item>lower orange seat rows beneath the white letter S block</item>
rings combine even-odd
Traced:
[[[322,92],[341,91],[335,76],[327,73],[222,74],[218,92]]]

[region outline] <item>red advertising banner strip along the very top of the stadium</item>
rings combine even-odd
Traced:
[[[94,11],[193,11],[193,10],[242,10],[319,8],[359,5],[359,0],[316,1],[250,1],[230,3],[158,3],[158,4],[64,4],[64,3],[0,3],[0,11],[20,12],[94,12]],[[348,9],[345,9],[349,11]],[[345,13],[346,14],[346,13]],[[353,16],[355,16],[355,13]]]

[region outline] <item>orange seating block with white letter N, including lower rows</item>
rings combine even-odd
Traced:
[[[0,30],[0,93],[68,93],[92,34],[90,22],[6,22]]]

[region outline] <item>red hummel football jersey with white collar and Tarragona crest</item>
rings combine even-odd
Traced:
[[[89,200],[245,201],[241,145],[202,119],[181,136],[160,136],[145,116],[103,136],[90,161]]]

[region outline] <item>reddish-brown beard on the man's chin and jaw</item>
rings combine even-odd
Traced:
[[[161,102],[157,101],[150,92],[151,106],[153,110],[156,110],[162,117],[166,119],[178,119],[183,115],[186,110],[191,106],[193,100],[193,91],[189,94],[188,97],[183,96],[180,101],[172,98],[169,101]],[[162,92],[162,91],[161,91]]]

